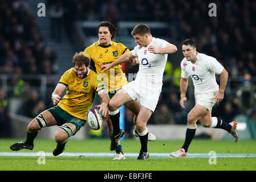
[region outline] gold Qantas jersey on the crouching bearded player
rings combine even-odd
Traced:
[[[58,106],[74,117],[86,120],[87,111],[92,107],[96,92],[107,89],[94,71],[88,69],[87,77],[79,78],[74,69],[68,69],[60,77],[59,83],[66,85],[67,91]]]

